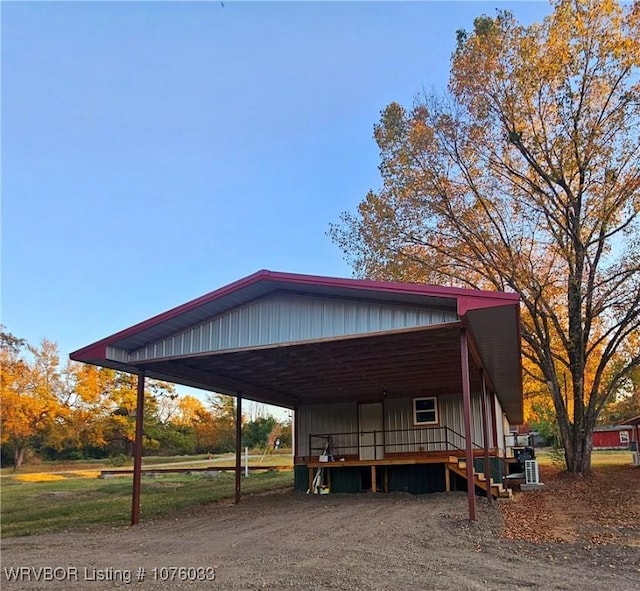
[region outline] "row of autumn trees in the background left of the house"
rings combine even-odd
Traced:
[[[2,465],[19,469],[30,457],[80,460],[130,457],[135,435],[137,376],[68,361],[44,339],[32,345],[0,332]],[[224,453],[235,447],[235,399],[206,402],[173,384],[146,380],[143,453]],[[291,446],[290,421],[243,417],[242,445]]]

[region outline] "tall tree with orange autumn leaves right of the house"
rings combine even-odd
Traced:
[[[360,276],[518,293],[531,377],[587,473],[640,364],[640,4],[498,11],[457,41],[445,95],[382,112],[383,187],[331,234]]]

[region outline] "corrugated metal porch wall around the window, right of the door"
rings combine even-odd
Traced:
[[[471,398],[472,439],[482,445],[481,398]],[[456,396],[438,397],[440,428],[416,428],[413,424],[411,398],[385,400],[386,451],[419,452],[439,451],[451,446],[464,449],[464,418],[462,399]],[[447,431],[445,427],[450,430]],[[456,433],[452,433],[452,431]]]

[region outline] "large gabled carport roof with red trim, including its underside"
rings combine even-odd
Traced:
[[[256,315],[254,309],[270,309],[256,302],[300,297],[340,305],[301,308],[300,322],[324,322],[315,332],[285,331],[294,336],[255,342],[235,338],[216,350],[167,345],[184,342],[183,335],[193,339],[204,326],[214,330],[234,314],[238,331],[255,332],[260,323],[261,334],[280,334],[282,326],[268,324],[282,323],[282,315]],[[368,319],[349,331],[340,319],[326,321],[342,309],[397,311],[404,319]],[[482,367],[509,420],[521,422],[519,298],[503,292],[258,271],[79,349],[71,359],[134,373],[144,368],[149,377],[295,407],[367,400],[383,391],[389,397],[460,392],[463,327],[472,342],[472,390],[481,387]]]

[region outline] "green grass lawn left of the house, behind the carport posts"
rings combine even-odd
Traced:
[[[99,468],[98,468],[99,469]],[[77,529],[97,525],[127,525],[131,518],[130,477],[95,478],[96,468],[65,474],[5,475],[2,487],[2,536]],[[91,477],[94,476],[94,477]],[[293,472],[264,472],[242,479],[243,493],[293,486]],[[169,515],[180,509],[233,498],[235,476],[221,472],[168,474],[143,478],[141,519]]]

